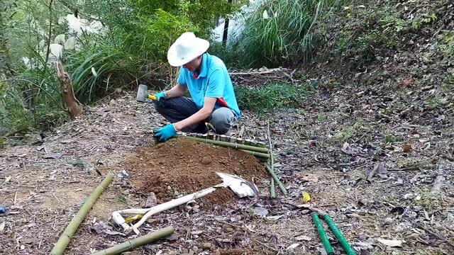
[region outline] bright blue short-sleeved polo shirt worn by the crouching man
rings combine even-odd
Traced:
[[[187,86],[192,100],[199,109],[204,107],[206,97],[217,98],[215,108],[230,108],[236,118],[241,118],[232,81],[226,65],[220,58],[204,53],[200,74],[181,67],[178,84]]]

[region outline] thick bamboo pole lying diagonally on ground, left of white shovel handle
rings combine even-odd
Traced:
[[[65,249],[70,244],[71,238],[74,236],[74,233],[77,231],[77,228],[79,225],[84,221],[85,217],[87,217],[88,212],[90,209],[92,209],[92,206],[96,202],[96,200],[101,196],[101,193],[104,191],[107,186],[112,182],[114,179],[113,174],[108,174],[106,178],[97,186],[92,195],[89,196],[89,198],[85,201],[84,205],[82,205],[82,208],[79,209],[79,212],[77,212],[77,215],[72,218],[70,224],[67,225],[65,228],[65,231],[63,234],[60,236],[58,239],[57,243],[55,243],[52,251],[50,251],[51,255],[62,255],[65,253]]]

